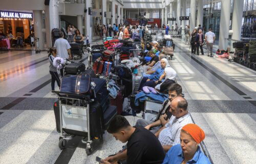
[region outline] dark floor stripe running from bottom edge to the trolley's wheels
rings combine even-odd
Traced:
[[[59,154],[54,164],[68,164],[78,144],[81,142],[81,139],[82,137],[75,136],[73,139],[69,140],[66,146],[67,148],[61,151],[61,153]],[[84,151],[84,155],[86,155],[85,151]]]

